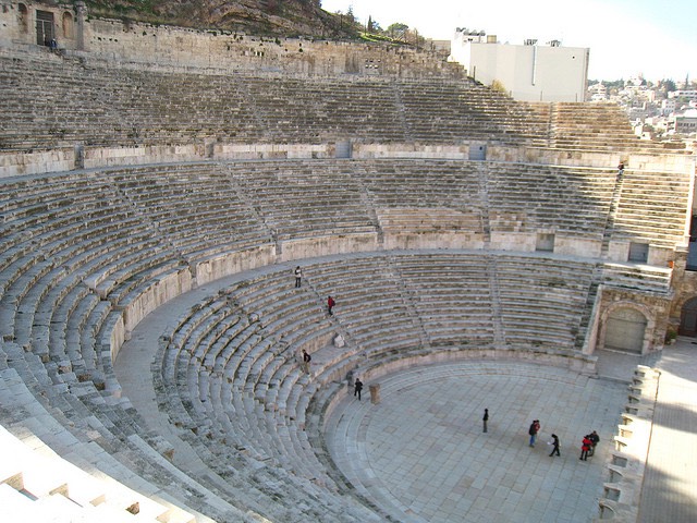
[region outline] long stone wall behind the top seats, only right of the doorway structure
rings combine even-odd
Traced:
[[[264,38],[222,31],[196,31],[115,20],[85,23],[91,58],[224,71],[270,71],[309,76],[463,76],[436,53],[402,46],[304,38]]]

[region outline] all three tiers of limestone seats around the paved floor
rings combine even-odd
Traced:
[[[603,126],[615,108],[582,122],[585,105],[516,104],[469,81],[136,71],[0,54],[0,153],[345,139],[648,148],[624,123]],[[667,293],[668,271],[491,247],[539,231],[674,246],[687,202],[674,193],[689,181],[649,171],[627,169],[617,184],[607,167],[306,159],[2,180],[3,423],[39,431],[44,419],[51,430],[40,435],[56,448],[80,440],[71,452],[89,455],[85,469],[159,498],[152,509],[143,503],[143,519],[381,521],[318,451],[311,427],[325,405],[352,372],[414,362],[559,356],[583,367],[598,285]],[[283,264],[322,255],[334,257],[308,262],[296,292]],[[174,296],[240,272],[243,281],[173,318],[162,336],[151,370],[171,424],[145,430],[114,375],[119,348]],[[331,345],[337,333],[341,349]],[[309,375],[303,348],[314,355]],[[2,490],[16,501],[16,488]],[[167,501],[185,510],[158,512]]]

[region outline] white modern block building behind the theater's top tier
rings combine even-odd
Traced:
[[[496,35],[457,29],[450,60],[485,85],[496,83],[523,101],[585,101],[589,49],[563,47],[559,40],[545,46],[500,44]]]

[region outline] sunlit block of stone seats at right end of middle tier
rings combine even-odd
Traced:
[[[613,236],[673,248],[685,240],[690,180],[648,170],[625,170]]]

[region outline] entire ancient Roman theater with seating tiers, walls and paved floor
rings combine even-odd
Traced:
[[[436,51],[82,2],[0,0],[0,94],[4,521],[659,521],[684,143]]]

